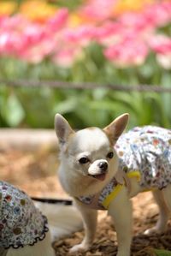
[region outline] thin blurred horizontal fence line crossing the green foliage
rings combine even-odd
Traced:
[[[51,88],[61,88],[61,89],[96,89],[96,88],[106,88],[115,91],[122,92],[171,92],[170,87],[162,87],[156,85],[115,85],[115,84],[103,84],[94,82],[68,82],[60,80],[0,80],[0,85],[4,86],[14,86],[14,87],[44,87],[48,86]]]

